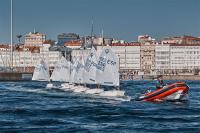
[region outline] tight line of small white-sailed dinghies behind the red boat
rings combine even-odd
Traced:
[[[51,77],[48,65],[41,60],[35,67],[32,80],[58,81],[62,83],[59,89],[64,91],[104,97],[123,97],[125,93],[120,90],[119,58],[110,46],[104,47],[99,57],[92,47],[86,59],[80,56],[73,63],[62,57],[56,63]],[[51,87],[53,84],[50,82],[47,88]]]

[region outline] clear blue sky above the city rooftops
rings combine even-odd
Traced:
[[[140,34],[200,36],[199,0],[13,0],[14,37],[37,31],[56,40],[74,32],[136,40]],[[10,40],[10,0],[0,0],[0,43]],[[16,37],[15,37],[16,41]]]

